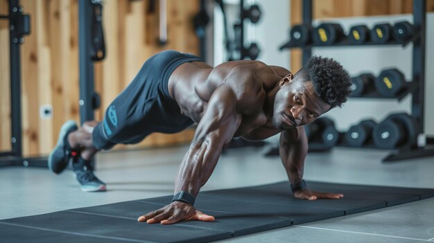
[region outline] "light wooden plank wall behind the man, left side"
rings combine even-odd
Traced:
[[[21,48],[23,150],[25,155],[47,154],[57,141],[62,123],[79,120],[78,1],[21,0],[21,5],[24,13],[31,15],[32,30]],[[198,54],[198,39],[191,23],[199,10],[198,0],[167,1],[168,44],[165,46],[157,44],[158,8],[150,12],[148,6],[147,0],[105,1],[107,57],[95,65],[95,87],[101,95],[96,120],[103,118],[105,108],[151,55],[165,49]],[[0,0],[0,11],[7,12],[7,8],[7,0]],[[4,64],[8,55],[3,55],[8,50],[7,40],[8,26],[0,23],[0,150],[10,139],[10,127],[3,121],[6,120],[3,116],[10,116],[7,109],[10,104],[6,103],[8,66]],[[40,118],[41,105],[53,106],[53,118]],[[179,134],[152,134],[142,143],[128,147],[184,143],[192,137],[192,129]],[[127,146],[119,146],[124,147]]]

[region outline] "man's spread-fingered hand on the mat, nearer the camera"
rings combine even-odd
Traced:
[[[196,210],[191,204],[182,201],[173,201],[171,204],[140,216],[137,221],[148,224],[175,224],[180,221],[199,220],[212,222],[214,217]]]

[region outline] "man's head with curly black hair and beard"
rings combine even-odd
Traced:
[[[312,57],[295,75],[279,81],[272,123],[288,129],[311,123],[315,118],[347,101],[351,85],[349,74],[338,62]]]

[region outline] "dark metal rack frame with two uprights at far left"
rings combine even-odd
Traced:
[[[79,62],[80,62],[80,123],[94,120],[94,60],[92,60],[92,1],[78,1],[79,12]],[[19,0],[9,0],[9,15],[1,15],[0,21],[10,23],[10,111],[11,111],[11,151],[0,152],[0,167],[32,166],[47,168],[46,157],[24,157],[22,152],[21,121],[21,50],[24,43],[22,30],[30,26],[28,15],[23,15]],[[94,161],[93,161],[94,163]]]

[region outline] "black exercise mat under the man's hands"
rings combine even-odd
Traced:
[[[342,199],[294,199],[287,181],[248,188],[201,192],[196,208],[215,222],[169,226],[137,217],[170,203],[172,196],[76,208],[0,221],[5,242],[209,242],[272,228],[360,213],[434,196],[434,189],[307,182],[311,190]]]

